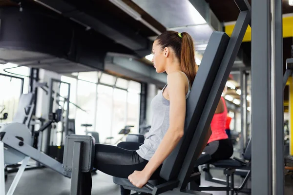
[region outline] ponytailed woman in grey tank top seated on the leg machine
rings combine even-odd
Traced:
[[[154,41],[152,62],[157,73],[167,73],[167,84],[152,99],[151,129],[137,150],[96,144],[94,168],[107,175],[128,178],[142,188],[150,178],[159,178],[163,161],[184,134],[186,99],[196,75],[194,45],[188,33],[166,31]],[[211,130],[205,139],[208,142]],[[120,145],[121,146],[121,145]],[[91,193],[91,175],[82,179],[82,194]]]

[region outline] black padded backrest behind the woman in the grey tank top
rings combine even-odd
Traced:
[[[209,91],[214,82],[218,68],[226,51],[229,36],[223,32],[213,32],[198,73],[194,79],[189,98],[185,120],[184,137],[163,163],[160,176],[166,180],[175,179],[187,154],[189,144],[195,134],[199,118],[207,102]]]

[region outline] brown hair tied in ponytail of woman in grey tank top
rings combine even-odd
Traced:
[[[182,71],[187,75],[192,85],[197,72],[193,39],[186,32],[180,35],[182,38],[176,31],[166,31],[159,35],[156,40],[162,49],[171,47],[174,50],[180,61]]]

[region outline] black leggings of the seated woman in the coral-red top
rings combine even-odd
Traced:
[[[229,159],[233,155],[233,144],[229,138],[212,141],[203,152],[211,156],[210,162]]]

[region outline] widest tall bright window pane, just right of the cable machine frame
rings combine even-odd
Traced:
[[[95,120],[95,102],[96,102],[96,84],[89,83],[83,80],[78,80],[77,83],[77,105],[81,109],[76,109],[75,127],[76,134],[83,135],[85,127],[82,124],[91,124],[92,127],[87,127],[87,131],[93,131]]]

